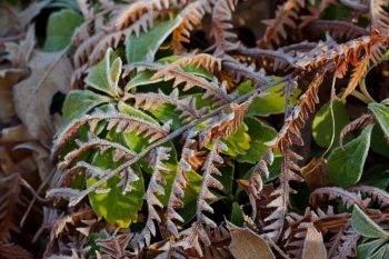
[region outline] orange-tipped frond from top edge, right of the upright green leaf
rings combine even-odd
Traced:
[[[198,0],[189,3],[181,12],[181,23],[172,34],[172,47],[174,53],[182,52],[182,42],[189,42],[190,31],[201,23],[206,13],[211,12],[217,0]]]

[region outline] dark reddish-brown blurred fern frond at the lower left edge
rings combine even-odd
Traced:
[[[0,196],[0,242],[11,240],[11,232],[19,232],[18,211],[22,201],[20,199],[21,180],[20,176],[14,172],[7,180],[1,182]],[[7,188],[4,187],[7,183]],[[6,248],[4,248],[6,249]]]

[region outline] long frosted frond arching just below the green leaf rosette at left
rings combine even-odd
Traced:
[[[170,131],[170,127],[168,124],[161,127],[160,124],[146,121],[138,117],[128,116],[113,110],[107,112],[98,110],[91,114],[82,116],[70,122],[56,138],[56,142],[51,149],[51,156],[56,158],[62,146],[71,140],[71,138],[77,135],[83,124],[88,123],[89,131],[93,132],[100,121],[108,122],[104,127],[107,130],[114,128],[116,132],[134,131],[137,135],[142,135],[143,137],[149,138],[149,142],[167,136]]]

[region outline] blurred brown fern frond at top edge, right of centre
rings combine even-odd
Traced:
[[[305,0],[288,0],[282,6],[279,6],[275,19],[262,21],[268,28],[262,39],[257,42],[257,46],[260,48],[278,46],[282,39],[287,38],[286,27],[297,28],[298,12],[305,6]]]

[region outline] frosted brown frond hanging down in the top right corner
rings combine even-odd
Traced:
[[[369,12],[371,30],[379,30],[381,34],[389,33],[389,13],[385,10],[388,8],[388,0],[370,0]]]

